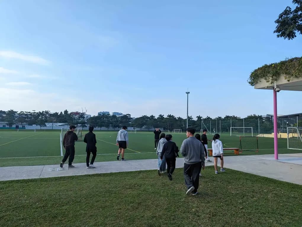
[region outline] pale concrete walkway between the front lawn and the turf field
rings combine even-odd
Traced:
[[[212,157],[210,157],[213,160]],[[225,168],[274,178],[302,185],[302,153],[274,155],[225,156]],[[219,161],[218,161],[219,163]],[[85,175],[95,173],[127,172],[157,169],[157,159],[95,162],[95,169],[86,169],[86,163],[74,164],[75,168],[57,165],[0,167],[0,181]],[[182,168],[184,159],[176,159],[176,168]],[[213,162],[206,162],[213,166]]]

